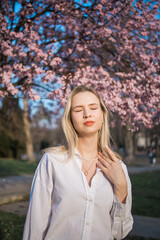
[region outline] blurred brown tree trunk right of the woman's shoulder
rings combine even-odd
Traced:
[[[135,152],[134,152],[134,134],[133,132],[129,131],[128,128],[125,128],[125,161],[127,164],[131,164],[134,161],[135,158]]]

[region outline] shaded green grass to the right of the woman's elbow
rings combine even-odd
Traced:
[[[160,217],[160,171],[133,174],[133,215]]]

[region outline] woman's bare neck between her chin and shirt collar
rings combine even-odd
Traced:
[[[78,138],[78,151],[79,153],[88,159],[97,157],[97,137],[79,137]]]

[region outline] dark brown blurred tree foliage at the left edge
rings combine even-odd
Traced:
[[[18,99],[4,98],[0,116],[0,156],[18,159],[26,150],[23,111]]]

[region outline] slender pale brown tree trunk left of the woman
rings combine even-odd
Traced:
[[[34,151],[33,151],[33,143],[31,137],[31,130],[30,130],[30,122],[28,119],[28,100],[24,98],[24,112],[23,112],[23,121],[24,121],[24,130],[26,134],[26,148],[27,148],[27,155],[29,162],[34,162]]]

